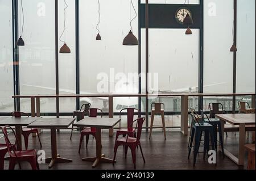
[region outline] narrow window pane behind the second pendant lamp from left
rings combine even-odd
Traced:
[[[59,94],[76,94],[76,20],[75,20],[75,1],[66,0],[59,1],[59,37],[64,30],[64,9],[65,15],[65,31],[61,37],[71,53],[59,53]],[[63,46],[63,42],[59,41],[59,49]],[[60,112],[73,112],[76,110],[76,98],[60,99]]]

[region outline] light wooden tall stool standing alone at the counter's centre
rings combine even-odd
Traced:
[[[154,105],[154,108],[153,108],[153,105]],[[162,105],[163,105],[163,109],[161,108]],[[155,115],[158,115],[158,114],[160,114],[162,116],[164,138],[166,139],[166,123],[164,122],[164,103],[152,103],[151,104],[151,123],[150,123],[149,139],[151,138],[152,128],[153,128],[153,124],[154,124],[154,117],[155,117]]]

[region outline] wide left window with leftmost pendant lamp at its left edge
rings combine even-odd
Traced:
[[[19,35],[22,8],[19,1]],[[52,0],[23,0],[24,47],[19,47],[20,94],[55,94],[55,10]],[[56,112],[56,99],[42,99],[41,112]],[[20,99],[30,112],[30,99]]]

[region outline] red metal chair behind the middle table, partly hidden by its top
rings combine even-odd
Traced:
[[[89,109],[89,117],[97,117],[98,111],[101,112],[101,117],[103,116],[103,112],[100,109],[97,108],[90,108]],[[94,138],[96,138],[96,128],[85,128],[80,133],[80,143],[79,143],[79,153],[82,146],[82,141],[84,141],[84,136],[86,136],[86,148],[89,141],[89,136],[92,135]]]

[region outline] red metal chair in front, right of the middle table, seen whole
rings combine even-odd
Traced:
[[[137,138],[127,136],[127,137],[120,138],[117,141],[115,141],[113,164],[114,164],[114,161],[115,161],[115,156],[117,155],[118,146],[120,146],[120,145],[125,146],[125,158],[127,156],[128,147],[131,149],[131,155],[133,157],[134,169],[136,169],[136,148],[137,148],[138,145],[139,145],[139,148],[141,149],[142,158],[143,158],[143,161],[145,163],[145,158],[144,158],[144,155],[143,155],[143,152],[142,152],[141,141],[140,141],[141,140],[142,125],[144,123],[144,120],[145,120],[145,118],[141,117],[141,118],[133,121],[133,123],[137,122],[137,125],[138,125]],[[132,126],[133,123],[130,124],[130,127]]]

